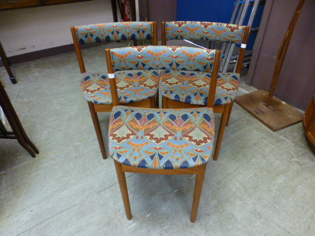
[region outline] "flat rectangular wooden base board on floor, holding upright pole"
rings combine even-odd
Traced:
[[[275,96],[266,106],[268,94],[260,89],[237,96],[235,102],[274,132],[302,121],[303,113]]]

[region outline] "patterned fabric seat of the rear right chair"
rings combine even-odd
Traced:
[[[162,96],[178,102],[207,105],[211,73],[181,70],[160,70]],[[238,73],[219,73],[215,105],[232,103],[239,88]]]

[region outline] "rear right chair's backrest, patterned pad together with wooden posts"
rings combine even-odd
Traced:
[[[240,73],[249,29],[249,26],[214,22],[162,22],[162,45],[166,45],[166,41],[172,39],[196,39],[242,44],[236,66],[236,73]]]

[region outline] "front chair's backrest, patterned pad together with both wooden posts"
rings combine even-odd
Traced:
[[[105,52],[113,105],[119,105],[118,96],[116,104],[114,101],[117,95],[115,71],[169,69],[212,73],[213,79],[209,89],[211,101],[208,104],[213,107],[221,58],[220,50],[182,46],[139,46],[105,49]],[[116,95],[113,95],[113,90],[116,90]]]

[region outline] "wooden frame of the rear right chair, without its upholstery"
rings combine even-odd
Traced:
[[[242,44],[247,44],[249,31],[250,31],[250,27],[246,26],[244,36],[242,39]],[[166,46],[166,22],[162,22],[162,43],[161,44],[162,44],[162,46]],[[237,60],[237,64],[236,64],[236,70],[235,70],[236,73],[241,74],[245,51],[246,51],[246,49],[241,47],[240,52],[239,52],[239,56],[238,56],[238,60]],[[211,82],[212,82],[212,78],[211,78]],[[218,157],[219,157],[225,126],[228,125],[228,122],[229,122],[229,119],[231,116],[231,112],[232,112],[233,104],[234,104],[234,101],[232,103],[226,104],[226,105],[214,105],[213,106],[214,113],[221,113],[222,114],[219,132],[218,132],[218,136],[217,136],[216,148],[215,148],[214,155],[213,155],[213,160],[215,160],[215,161],[217,161]],[[168,99],[166,97],[163,97],[163,108],[169,108],[169,107],[172,107],[172,108],[196,108],[196,107],[205,107],[205,106],[178,102],[178,101],[174,101],[172,99]]]

